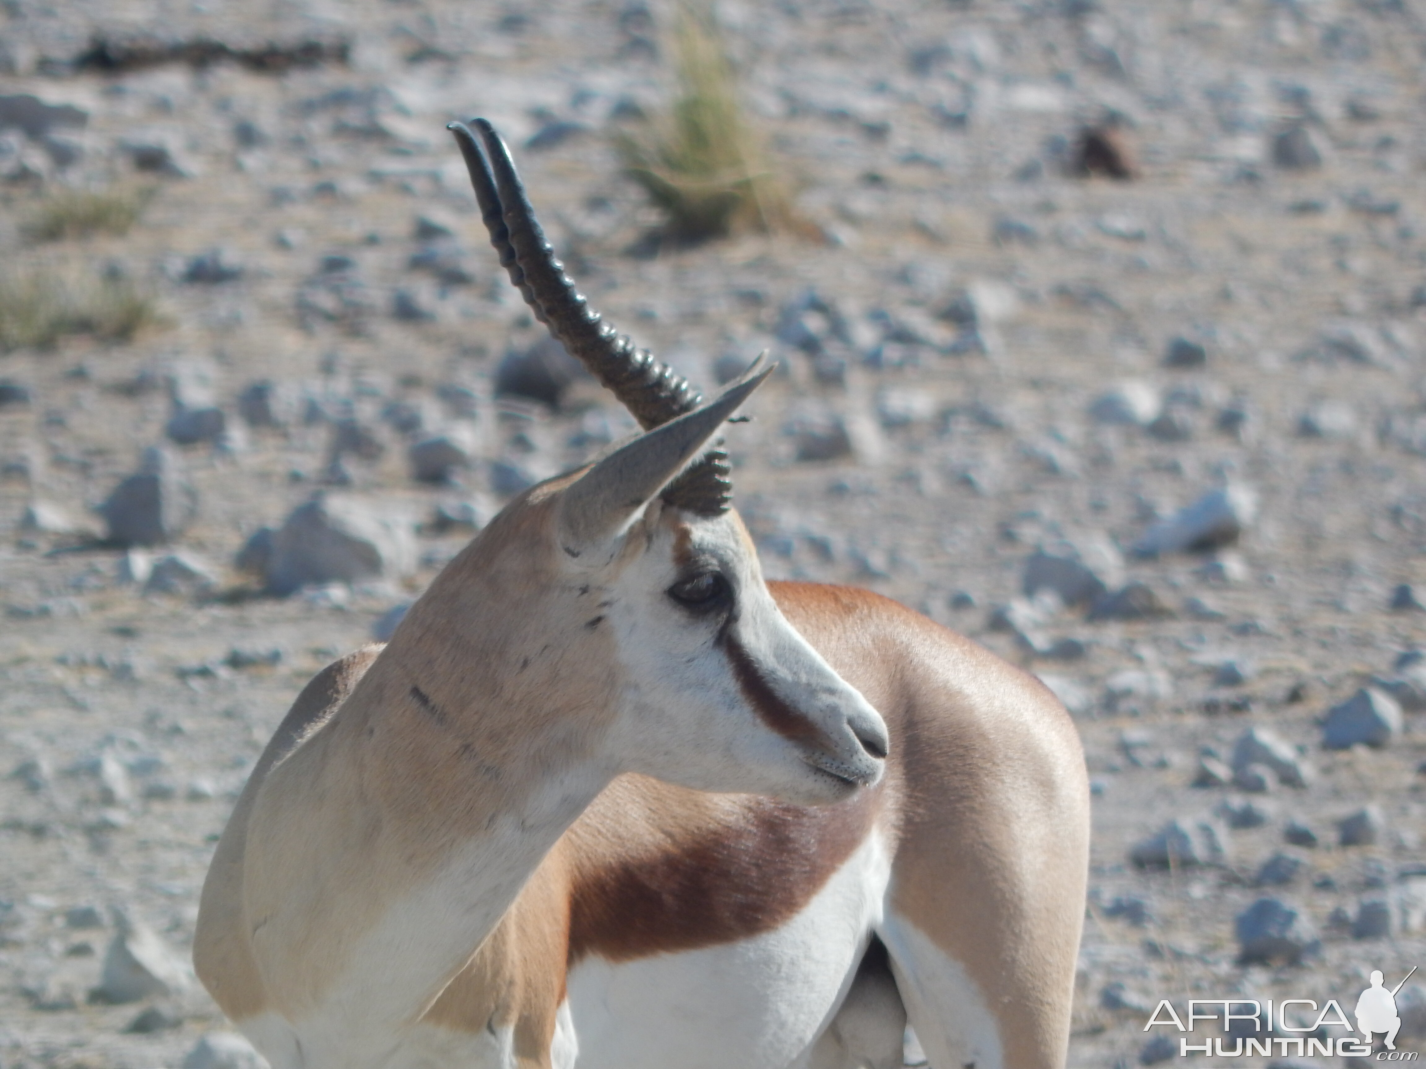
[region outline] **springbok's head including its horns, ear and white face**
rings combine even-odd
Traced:
[[[703,405],[603,324],[555,259],[501,137],[452,123],[482,220],[535,316],[646,433],[563,482],[549,547],[560,586],[599,593],[617,661],[607,745],[619,771],[709,791],[833,802],[876,784],[880,714],[791,627],[732,510],[716,435],[767,378],[757,365]],[[579,609],[570,607],[570,613]]]

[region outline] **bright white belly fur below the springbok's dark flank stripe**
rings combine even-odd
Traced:
[[[579,1069],[796,1065],[851,985],[890,872],[873,835],[771,932],[632,962],[580,962],[569,978]]]

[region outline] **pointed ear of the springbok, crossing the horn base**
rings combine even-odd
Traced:
[[[716,401],[616,449],[565,490],[559,512],[565,552],[578,557],[586,547],[623,533],[645,505],[703,455],[723,420],[773,373],[773,368],[761,363],[759,356]]]

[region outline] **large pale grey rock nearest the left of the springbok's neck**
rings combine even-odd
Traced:
[[[267,589],[287,596],[304,586],[401,577],[415,569],[414,523],[401,506],[319,493],[272,536]]]

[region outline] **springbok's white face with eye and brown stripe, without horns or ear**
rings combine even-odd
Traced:
[[[881,778],[886,724],[779,611],[734,515],[655,502],[590,577],[625,668],[620,771],[804,805]]]

